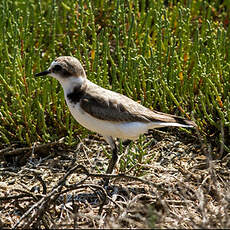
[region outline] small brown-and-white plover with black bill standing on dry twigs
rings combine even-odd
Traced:
[[[112,158],[107,174],[112,173],[118,159],[115,138],[135,140],[149,129],[195,126],[193,121],[150,110],[125,95],[94,84],[87,79],[77,58],[56,58],[47,70],[35,76],[44,75],[60,82],[73,117],[85,128],[101,134],[111,146]]]

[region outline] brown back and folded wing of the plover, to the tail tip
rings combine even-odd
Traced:
[[[99,89],[99,90],[98,90]],[[170,114],[152,111],[130,98],[101,88],[86,90],[80,106],[90,115],[109,121],[170,122],[193,125],[191,121]]]

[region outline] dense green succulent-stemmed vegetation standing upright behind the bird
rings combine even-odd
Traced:
[[[71,144],[88,132],[58,82],[34,77],[56,56],[72,55],[93,82],[192,117],[217,145],[224,133],[229,150],[230,3],[166,2],[1,1],[0,145],[62,136]]]

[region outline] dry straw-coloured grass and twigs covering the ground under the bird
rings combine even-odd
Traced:
[[[100,185],[108,146],[99,138],[34,147],[20,167],[21,153],[5,156],[0,227],[230,228],[230,157],[211,160],[214,150],[194,137],[154,132],[159,140],[143,141],[142,162],[117,168],[108,188]],[[138,143],[120,162],[129,151]]]

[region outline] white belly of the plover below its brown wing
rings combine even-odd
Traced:
[[[111,136],[121,139],[137,139],[140,134],[145,133],[150,123],[142,122],[113,122],[97,119],[86,113],[79,105],[68,103],[73,117],[85,128],[99,133],[103,136]]]

